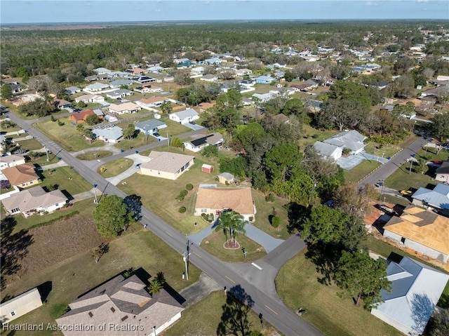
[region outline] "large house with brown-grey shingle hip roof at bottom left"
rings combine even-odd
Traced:
[[[95,327],[62,328],[65,336],[159,335],[181,318],[185,308],[165,289],[151,295],[146,287],[137,275],[116,276],[70,303],[69,312],[56,323]],[[101,325],[106,328],[100,330]]]

